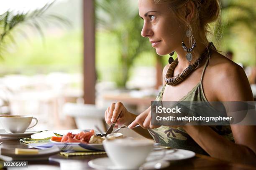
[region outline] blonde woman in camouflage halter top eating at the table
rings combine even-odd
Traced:
[[[219,54],[206,34],[208,23],[218,19],[218,0],[138,0],[144,20],[141,31],[159,55],[177,52],[163,70],[163,88],[156,101],[253,101],[248,79],[239,65]],[[187,46],[186,46],[187,45]],[[173,77],[172,77],[173,76]],[[127,125],[162,145],[209,154],[223,160],[256,160],[255,126],[153,126],[151,107],[136,116],[121,102],[105,111],[110,125]],[[148,130],[146,130],[148,129]]]

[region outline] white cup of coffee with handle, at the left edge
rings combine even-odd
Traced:
[[[36,123],[28,127],[32,120]],[[27,129],[36,126],[38,120],[33,116],[23,116],[23,115],[5,115],[0,116],[0,123],[7,133],[24,133]]]

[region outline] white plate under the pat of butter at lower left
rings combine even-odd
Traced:
[[[60,150],[57,146],[53,146],[49,149],[38,150],[38,152],[38,154],[31,155],[16,155],[15,150],[1,148],[1,155],[9,156],[13,160],[48,160],[49,156],[59,153]]]

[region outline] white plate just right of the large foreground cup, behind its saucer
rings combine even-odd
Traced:
[[[195,153],[190,150],[184,149],[172,149],[172,150],[165,150],[163,151],[154,151],[151,152],[147,158],[147,161],[152,161],[161,157],[164,157],[163,160],[184,160],[188,158],[192,158],[195,156]]]

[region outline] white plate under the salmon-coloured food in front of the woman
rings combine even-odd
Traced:
[[[85,144],[85,143],[63,143],[50,139],[51,143],[57,145],[62,151],[104,151],[103,144]]]

